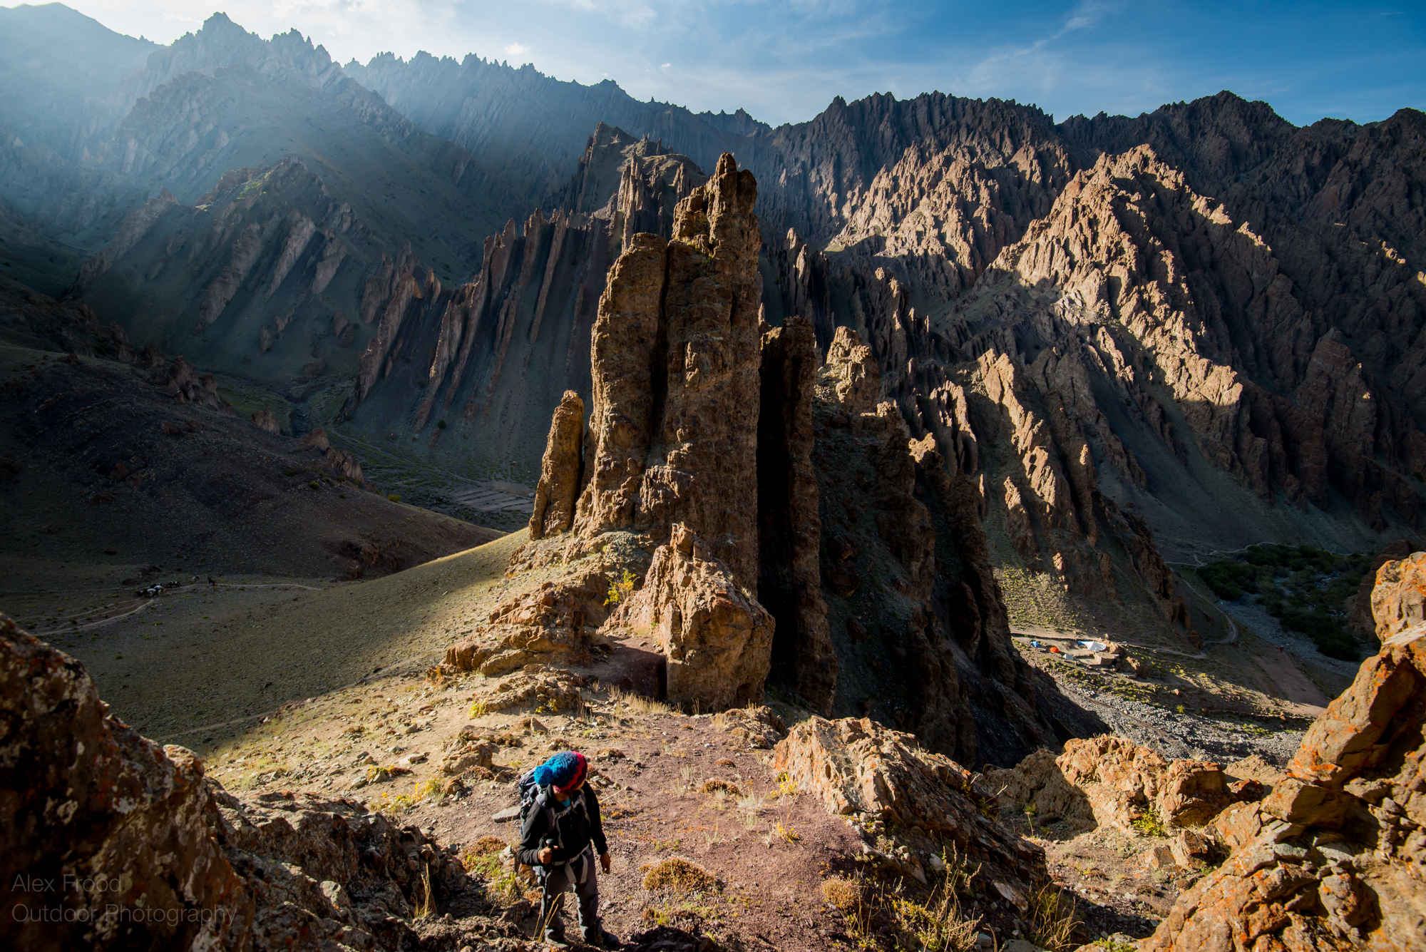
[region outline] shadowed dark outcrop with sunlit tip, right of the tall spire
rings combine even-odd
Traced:
[[[978,486],[951,475],[974,443],[948,460],[934,438],[911,439],[880,395],[873,349],[837,328],[817,376],[813,455],[836,710],[911,731],[958,761],[1012,764],[1055,743],[1041,710],[1054,688],[1010,644]]]

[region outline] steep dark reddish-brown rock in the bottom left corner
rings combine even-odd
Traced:
[[[0,866],[23,911],[0,921],[6,945],[240,948],[254,899],[214,842],[198,760],[110,717],[77,661],[4,617],[0,687]]]

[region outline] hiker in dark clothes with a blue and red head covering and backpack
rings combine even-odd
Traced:
[[[579,898],[579,931],[595,948],[617,949],[619,939],[599,925],[599,864],[609,872],[609,844],[599,821],[599,798],[585,785],[589,761],[579,751],[559,751],[520,780],[522,804],[520,849],[516,859],[535,868],[543,886],[539,925],[545,942],[568,949],[565,922],[559,912],[565,891],[573,888]]]

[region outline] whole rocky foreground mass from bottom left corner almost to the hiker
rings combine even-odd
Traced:
[[[0,948],[453,952],[496,928],[422,918],[485,906],[415,827],[312,794],[228,794],[3,616],[0,717]]]

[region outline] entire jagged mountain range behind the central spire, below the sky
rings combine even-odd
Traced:
[[[727,151],[766,318],[860,332],[997,564],[1188,630],[1161,550],[1422,539],[1415,110],[871,95],[773,128],[476,57],[339,67],[222,14],[157,47],[58,4],[0,10],[0,77],[10,274],[311,422],[530,477],[605,269]]]

